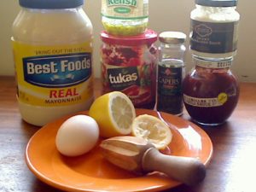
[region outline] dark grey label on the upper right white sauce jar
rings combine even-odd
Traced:
[[[191,20],[190,49],[222,54],[236,51],[238,22],[212,23]]]

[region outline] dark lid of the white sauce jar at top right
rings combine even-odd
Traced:
[[[237,0],[195,0],[195,4],[207,7],[234,7]]]

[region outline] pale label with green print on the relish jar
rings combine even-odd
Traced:
[[[122,20],[147,18],[148,3],[143,0],[102,0],[102,15]]]

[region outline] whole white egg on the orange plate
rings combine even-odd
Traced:
[[[94,148],[99,139],[96,120],[87,115],[75,115],[59,128],[55,144],[61,154],[78,156]]]

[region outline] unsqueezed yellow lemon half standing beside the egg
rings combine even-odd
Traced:
[[[130,98],[119,91],[96,98],[90,106],[89,115],[99,125],[101,137],[130,134],[131,123],[136,117]]]

